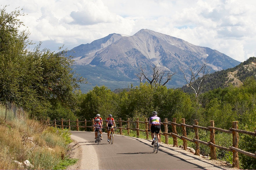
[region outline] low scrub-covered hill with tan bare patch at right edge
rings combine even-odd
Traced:
[[[250,57],[233,68],[228,68],[210,74],[210,78],[202,86],[202,92],[217,88],[225,88],[230,84],[239,87],[243,85],[244,80],[250,76],[254,76],[256,78],[256,57]],[[200,78],[198,79],[200,81]],[[186,85],[181,89],[186,93],[194,93],[194,91]]]

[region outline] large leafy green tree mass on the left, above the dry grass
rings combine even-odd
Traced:
[[[40,50],[41,43],[29,49],[29,32],[19,32],[23,25],[19,17],[24,14],[17,9],[7,13],[6,6],[0,12],[0,102],[15,103],[34,118],[46,118],[44,108],[56,105],[73,109],[74,90],[84,79],[72,71],[67,51]]]

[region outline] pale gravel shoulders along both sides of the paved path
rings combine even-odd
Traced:
[[[93,132],[92,132],[93,133]],[[117,135],[115,136],[122,136]],[[126,136],[128,137],[128,136]],[[128,137],[134,138],[134,137]],[[98,158],[93,145],[90,145],[89,141],[71,135],[71,139],[74,140],[69,147],[71,148],[68,152],[70,158],[77,158],[78,162],[67,169],[99,169]],[[136,138],[142,142],[150,143],[151,140]],[[160,151],[171,153],[173,156],[177,156],[184,160],[187,160],[193,164],[199,165],[204,169],[236,169],[232,168],[231,164],[227,164],[225,161],[210,160],[209,158],[203,158],[196,156],[189,150],[185,151],[180,147],[172,147],[172,145],[160,143]]]

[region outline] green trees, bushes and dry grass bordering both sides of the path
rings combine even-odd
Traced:
[[[198,98],[182,89],[167,89],[154,83],[131,85],[118,93],[96,86],[85,94],[79,91],[79,83],[87,82],[72,70],[73,60],[71,56],[65,57],[66,50],[41,50],[41,43],[30,49],[29,32],[19,30],[24,26],[20,21],[24,14],[19,9],[8,13],[6,8],[0,9],[0,169],[24,169],[13,160],[29,160],[33,165],[31,169],[62,169],[76,161],[66,156],[67,144],[71,141],[68,131],[49,128],[36,121],[40,119],[92,120],[96,114],[101,114],[103,119],[112,114],[116,120],[139,118],[144,121],[152,111],[157,111],[162,121],[177,118],[177,123],[181,123],[181,118],[185,118],[186,124],[191,125],[197,119],[200,126],[207,127],[210,120],[214,120],[215,126],[223,129],[229,129],[232,121],[238,121],[239,129],[256,129],[255,76],[239,75],[242,86],[209,88],[198,93]],[[247,63],[253,60],[255,58],[250,58]],[[254,74],[250,73],[255,75],[255,70]],[[21,117],[13,112],[6,114],[11,104],[23,108],[26,114]],[[177,132],[182,133],[178,128]],[[187,133],[194,138],[192,130],[187,129]],[[200,140],[208,142],[209,136],[199,131]],[[145,138],[143,133],[140,137]],[[228,147],[230,141],[227,134],[216,132],[217,144]],[[255,137],[241,134],[239,148],[254,153],[255,141]],[[188,146],[194,147],[194,144],[188,142]],[[210,153],[203,145],[200,149],[202,155]],[[218,159],[230,161],[230,154],[217,149]],[[239,154],[239,161],[243,169],[256,169],[254,158]]]

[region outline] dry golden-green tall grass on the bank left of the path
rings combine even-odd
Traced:
[[[56,169],[65,160],[69,132],[40,124],[25,114],[15,116],[0,104],[0,169]],[[21,167],[15,160],[29,160],[33,167]]]

